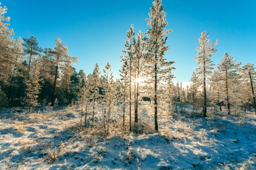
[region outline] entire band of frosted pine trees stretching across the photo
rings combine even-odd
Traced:
[[[241,66],[225,53],[214,68],[211,57],[216,53],[217,41],[210,43],[206,32],[199,38],[195,57],[198,67],[191,84],[185,88],[174,84],[174,62],[164,58],[171,30],[166,29],[166,12],[160,0],[150,8],[145,35],[141,31],[136,34],[133,25],[127,31],[120,60],[121,78],[117,80],[109,62],[102,73],[98,64],[92,74],[85,75],[83,70],[77,73],[72,67],[77,57],[69,56],[60,39],[54,49],[40,48],[34,36],[14,40],[9,18],[4,16],[6,7],[1,7],[0,12],[1,107],[23,106],[32,111],[39,106],[77,104],[82,110],[81,125],[93,127],[101,122],[105,131],[117,116],[122,117],[124,129],[127,125],[132,130],[140,120],[143,101],[148,101],[154,111],[155,130],[159,112],[171,115],[177,112],[177,104],[203,109],[204,117],[209,107],[220,111],[225,107],[228,114],[246,111],[246,106],[255,108],[255,67],[250,63]]]

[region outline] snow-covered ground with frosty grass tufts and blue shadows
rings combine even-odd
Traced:
[[[159,133],[146,134],[125,133],[120,122],[107,137],[79,125],[77,108],[2,111],[0,169],[256,169],[253,113],[195,124],[186,114],[159,116]]]

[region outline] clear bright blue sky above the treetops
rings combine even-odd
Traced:
[[[152,1],[66,1],[2,0],[11,17],[15,36],[34,35],[43,48],[53,48],[60,37],[69,54],[79,57],[75,65],[91,73],[96,62],[103,69],[107,61],[117,78],[119,56],[126,32],[133,23],[135,31],[144,33]],[[196,68],[196,46],[203,31],[211,40],[218,39],[218,63],[224,52],[241,61],[256,65],[256,1],[163,0],[167,12],[169,51],[166,58],[175,61],[175,80],[187,82]]]

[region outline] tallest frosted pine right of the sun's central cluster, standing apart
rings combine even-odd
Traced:
[[[197,56],[195,57],[198,64],[196,72],[199,75],[201,83],[203,84],[204,117],[207,117],[207,80],[213,70],[212,54],[216,53],[216,49],[214,49],[213,46],[217,45],[217,40],[210,44],[208,36],[209,33],[206,33],[205,31],[201,33],[201,37],[199,38],[200,45],[197,46]]]

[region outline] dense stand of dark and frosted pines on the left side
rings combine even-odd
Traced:
[[[13,39],[6,7],[0,7],[1,107],[70,104],[77,100],[83,72],[72,67],[77,57],[68,54],[60,39],[54,49],[40,48],[34,36]]]

